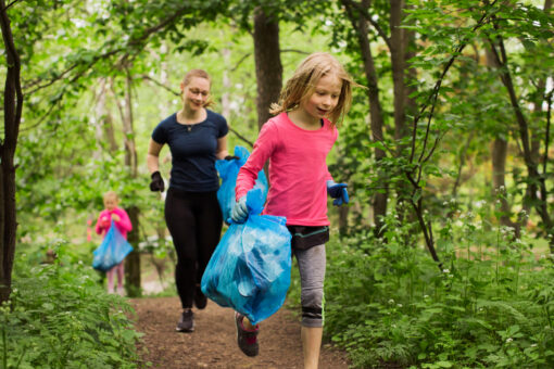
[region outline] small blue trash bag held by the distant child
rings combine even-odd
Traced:
[[[131,251],[133,246],[127,242],[127,240],[125,240],[112,220],[112,226],[110,227],[110,230],[108,230],[104,240],[100,246],[92,252],[95,255],[92,259],[92,268],[101,271],[108,271],[123,262],[123,259]]]

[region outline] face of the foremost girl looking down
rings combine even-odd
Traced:
[[[323,76],[314,92],[301,103],[301,107],[316,119],[327,117],[339,103],[342,80],[335,74]]]

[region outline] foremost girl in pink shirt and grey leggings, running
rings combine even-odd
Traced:
[[[304,368],[317,368],[323,334],[325,242],[329,240],[327,195],[333,204],[349,202],[345,183],[336,183],[326,158],[338,137],[336,123],[350,109],[357,86],[330,54],[307,56],[287,81],[276,114],[264,124],[252,154],[242,166],[235,189],[234,221],[248,217],[245,194],[269,161],[269,192],[263,214],[287,217],[292,253],[301,277]],[[259,327],[236,313],[238,345],[248,356],[259,353]]]

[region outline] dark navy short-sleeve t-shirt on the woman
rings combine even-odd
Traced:
[[[206,110],[205,120],[182,125],[177,114],[162,120],[152,132],[152,139],[169,145],[172,173],[169,187],[187,192],[217,191],[219,179],[215,169],[217,139],[229,131],[227,120]]]

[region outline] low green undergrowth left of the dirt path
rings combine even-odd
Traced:
[[[136,368],[133,310],[108,295],[66,245],[53,264],[20,252],[13,293],[0,307],[2,368]]]

